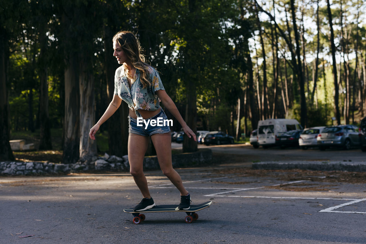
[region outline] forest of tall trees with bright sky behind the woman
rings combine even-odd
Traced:
[[[39,132],[37,148],[49,150],[61,130],[64,163],[98,153],[88,134],[113,96],[119,30],[137,33],[194,131],[239,140],[268,118],[357,124],[366,113],[365,11],[363,0],[3,0],[0,159],[14,160],[18,131]],[[127,154],[127,115],[123,104],[100,129],[112,155]],[[183,151],[195,150],[185,138]]]

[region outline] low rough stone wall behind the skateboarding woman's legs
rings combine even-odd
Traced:
[[[200,149],[194,153],[181,153],[172,155],[173,168],[190,167],[210,164],[212,162],[211,149]],[[145,157],[144,169],[160,169],[156,156]],[[31,175],[31,174],[52,174],[70,173],[83,171],[130,171],[128,155],[122,158],[109,156],[94,157],[90,161],[76,162],[75,164],[54,164],[43,162],[0,162],[0,174],[3,175]]]

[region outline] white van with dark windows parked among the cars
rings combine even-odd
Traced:
[[[258,144],[263,148],[274,146],[277,136],[284,132],[303,129],[295,119],[267,119],[258,122]]]

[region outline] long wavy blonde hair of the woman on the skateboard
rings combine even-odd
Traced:
[[[124,50],[128,59],[131,60],[132,65],[141,72],[140,81],[143,87],[146,88],[147,86],[150,86],[149,65],[145,63],[145,56],[142,54],[140,42],[136,38],[135,34],[131,31],[119,31],[113,37],[113,42],[115,41]],[[133,79],[133,77],[130,77],[127,67],[123,65],[123,68],[124,74],[126,74],[128,78]]]

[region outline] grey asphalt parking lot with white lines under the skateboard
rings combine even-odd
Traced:
[[[1,243],[366,243],[362,181],[233,165],[178,172],[193,204],[213,201],[192,224],[185,213],[133,224],[123,209],[141,194],[128,173],[0,177]],[[157,204],[178,204],[160,171],[146,173]]]

